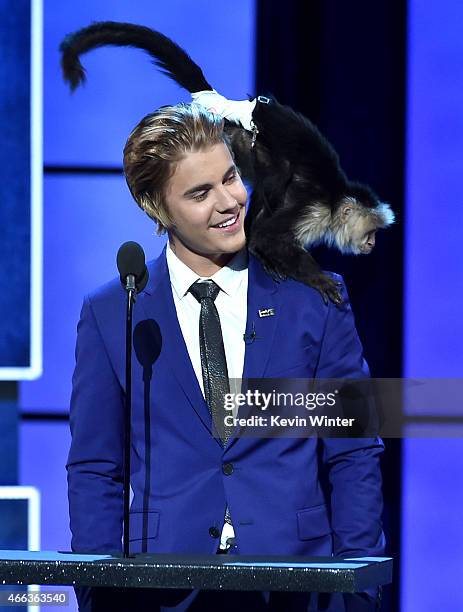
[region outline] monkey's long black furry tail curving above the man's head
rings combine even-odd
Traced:
[[[106,45],[143,49],[165,75],[190,93],[213,89],[188,53],[164,34],[131,23],[99,21],[68,34],[60,45],[63,76],[72,91],[86,79],[80,56]]]

